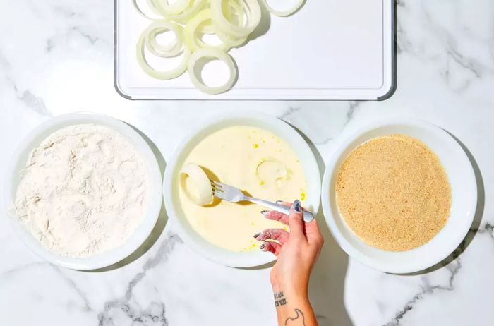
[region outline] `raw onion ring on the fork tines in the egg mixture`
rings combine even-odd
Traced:
[[[193,195],[186,187],[186,179],[190,178],[195,186],[198,195]],[[212,187],[210,179],[203,169],[197,164],[187,163],[180,171],[180,186],[187,198],[200,206],[208,205],[212,202]]]

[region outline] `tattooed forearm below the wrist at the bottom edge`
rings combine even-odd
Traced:
[[[275,292],[275,306],[279,326],[317,326],[307,294]]]

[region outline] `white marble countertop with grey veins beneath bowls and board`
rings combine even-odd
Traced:
[[[165,160],[192,123],[232,109],[293,123],[324,161],[369,119],[425,119],[475,159],[481,205],[469,236],[444,267],[398,276],[349,259],[325,228],[311,279],[315,311],[320,325],[494,325],[494,205],[483,200],[494,191],[494,1],[398,1],[398,89],[385,102],[130,102],[113,86],[112,2],[4,1],[1,174],[33,126],[72,111],[128,121]],[[172,225],[164,227],[164,215],[149,250],[104,272],[40,260],[1,217],[0,325],[275,325],[269,270],[195,255]]]

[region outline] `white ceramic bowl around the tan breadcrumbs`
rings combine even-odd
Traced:
[[[438,155],[452,190],[451,215],[445,227],[425,245],[403,252],[379,250],[363,243],[339,214],[335,193],[339,167],[352,150],[371,138],[396,133],[421,140]],[[343,250],[375,270],[402,274],[425,270],[447,258],[459,246],[474,219],[477,187],[469,158],[449,133],[424,121],[380,121],[340,145],[327,164],[321,202],[327,225]]]

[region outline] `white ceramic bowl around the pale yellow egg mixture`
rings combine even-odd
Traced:
[[[307,198],[305,206],[316,213],[320,203],[320,174],[318,164],[311,148],[308,146],[301,135],[291,128],[289,124],[277,119],[275,116],[260,114],[256,112],[236,112],[222,114],[207,120],[196,129],[191,135],[188,135],[181,144],[174,150],[171,159],[167,164],[167,170],[164,173],[164,205],[170,220],[176,222],[179,236],[186,241],[188,246],[195,252],[209,258],[220,264],[231,267],[253,267],[267,264],[275,260],[272,253],[264,253],[260,250],[248,253],[237,253],[234,251],[219,248],[212,243],[203,239],[188,223],[183,215],[179,205],[179,171],[188,156],[189,152],[205,136],[229,126],[254,126],[270,131],[280,138],[284,139],[296,152],[306,174],[307,181]]]

